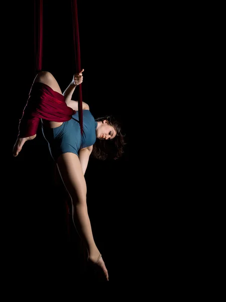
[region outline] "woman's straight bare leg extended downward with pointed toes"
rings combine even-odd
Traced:
[[[79,158],[76,154],[62,154],[57,167],[62,181],[71,197],[75,228],[87,247],[88,258],[108,280],[108,273],[93,239],[86,204],[86,183]]]

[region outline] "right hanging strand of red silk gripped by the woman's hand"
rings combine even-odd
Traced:
[[[74,53],[75,53],[75,64],[76,72],[81,70],[81,55],[80,55],[80,43],[79,43],[79,31],[78,31],[78,10],[77,0],[71,0],[72,9],[72,22],[73,22],[73,38],[74,38]],[[83,116],[82,116],[82,89],[81,85],[78,86],[78,116],[80,122],[80,128],[82,133]]]

